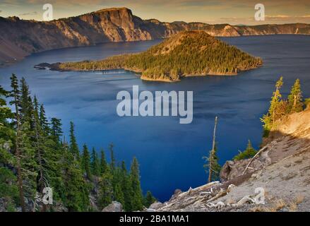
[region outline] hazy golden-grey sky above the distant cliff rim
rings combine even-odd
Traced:
[[[127,7],[143,19],[229,23],[310,23],[310,0],[0,0],[0,16],[42,20],[44,4],[52,4],[53,18],[78,16],[102,8]],[[256,4],[265,7],[265,20],[254,19]]]

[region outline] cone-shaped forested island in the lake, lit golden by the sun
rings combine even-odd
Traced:
[[[101,61],[65,62],[52,65],[60,71],[127,69],[141,79],[179,81],[182,76],[237,75],[262,65],[260,58],[204,31],[184,31],[138,54],[123,54]]]

